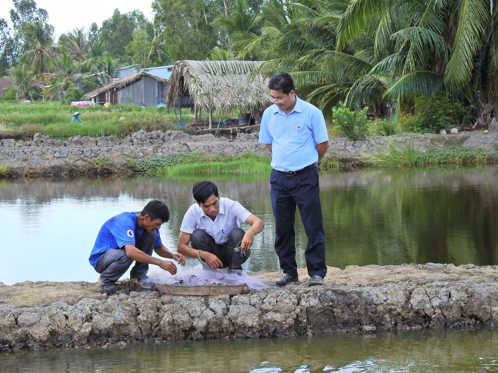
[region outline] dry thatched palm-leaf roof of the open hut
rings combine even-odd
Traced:
[[[249,74],[261,61],[177,61],[169,78],[166,105],[175,107],[189,95],[197,109],[241,112],[263,110],[271,104],[269,77]]]

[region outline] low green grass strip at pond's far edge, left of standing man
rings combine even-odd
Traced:
[[[207,156],[201,153],[171,154],[128,161],[128,166],[152,175],[269,174],[271,171],[269,159],[253,153],[240,157]]]

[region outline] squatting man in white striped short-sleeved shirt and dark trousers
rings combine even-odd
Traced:
[[[242,270],[254,235],[261,232],[264,223],[239,202],[220,198],[213,182],[197,182],[192,192],[195,203],[183,217],[178,253],[203,260],[213,269]],[[240,227],[240,221],[251,226],[247,232]]]

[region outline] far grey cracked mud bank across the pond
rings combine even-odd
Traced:
[[[116,136],[74,136],[67,141],[50,139],[36,134],[31,141],[0,139],[0,166],[11,169],[10,176],[71,176],[92,173],[126,173],[126,160],[160,157],[168,154],[201,152],[205,154],[240,155],[247,152],[269,156],[266,147],[257,142],[257,133],[239,133],[235,140],[215,137],[212,134],[189,135],[183,131],[139,131],[119,140]],[[362,154],[375,151],[376,146],[386,147],[387,141],[411,144],[424,150],[429,147],[481,148],[497,154],[498,133],[481,131],[461,132],[458,135],[410,135],[377,137],[350,141],[331,139],[326,157],[346,162],[359,160]],[[110,165],[104,170],[88,170],[88,162],[106,159]],[[129,170],[128,170],[129,171]]]

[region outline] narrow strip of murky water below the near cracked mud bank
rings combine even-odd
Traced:
[[[497,372],[490,330],[170,341],[0,354],[2,372]]]

